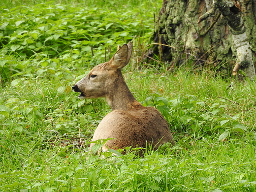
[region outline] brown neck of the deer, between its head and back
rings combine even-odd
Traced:
[[[121,109],[127,111],[129,109],[141,106],[141,104],[131,94],[121,71],[119,73],[120,74],[114,83],[113,89],[111,89],[111,92],[105,97],[111,109]]]

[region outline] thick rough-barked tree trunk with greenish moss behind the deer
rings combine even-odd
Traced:
[[[234,17],[228,17],[226,11]],[[240,3],[235,0],[163,0],[154,32],[154,41],[160,45],[155,45],[149,56],[159,55],[162,62],[170,62],[171,66],[184,64],[188,59],[194,59],[197,64],[207,64],[205,61],[214,58],[215,64],[226,69],[238,63],[246,74],[249,74],[247,66],[251,67],[250,79],[253,79],[256,62],[255,14],[256,0],[241,0]],[[242,33],[241,28],[240,32],[236,31],[237,24],[240,27],[244,25],[247,36],[243,39],[238,38]],[[242,45],[251,52],[250,64],[250,56],[246,59],[241,56],[243,53],[239,49]]]

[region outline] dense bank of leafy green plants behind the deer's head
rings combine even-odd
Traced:
[[[56,74],[58,68],[103,63],[116,51],[113,45],[150,34],[154,23],[148,18],[136,11],[50,2],[1,10],[1,81],[10,81],[14,74],[40,76]]]

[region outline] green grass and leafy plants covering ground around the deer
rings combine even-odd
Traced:
[[[0,191],[255,192],[256,83],[142,62],[161,0],[68,3],[0,2]],[[110,107],[71,87],[130,40],[128,87],[176,146],[103,159],[88,145]]]

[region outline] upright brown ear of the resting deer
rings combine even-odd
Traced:
[[[122,68],[129,63],[132,53],[132,43],[124,44],[110,60],[110,65]]]

